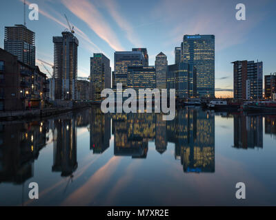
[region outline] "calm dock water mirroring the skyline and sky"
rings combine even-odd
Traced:
[[[276,206],[275,115],[161,116],[92,108],[0,122],[0,205]],[[38,200],[28,199],[31,182]]]

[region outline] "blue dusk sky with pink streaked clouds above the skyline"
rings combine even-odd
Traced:
[[[52,36],[68,28],[79,39],[78,76],[90,74],[90,57],[102,52],[114,69],[114,52],[146,47],[150,65],[174,49],[184,34],[215,34],[216,96],[233,96],[233,61],[263,61],[264,75],[276,72],[275,0],[27,0],[39,6],[39,20],[27,28],[36,34],[36,58],[53,63]],[[246,21],[237,21],[237,3],[246,5]],[[1,0],[0,47],[4,28],[23,24],[23,0]],[[37,61],[42,72],[46,70]],[[52,69],[48,67],[50,71]]]

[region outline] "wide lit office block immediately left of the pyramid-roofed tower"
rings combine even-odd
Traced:
[[[155,67],[128,67],[128,88],[137,92],[139,89],[155,89]]]

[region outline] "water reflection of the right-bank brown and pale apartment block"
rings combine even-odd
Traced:
[[[263,148],[263,116],[234,115],[234,147]]]

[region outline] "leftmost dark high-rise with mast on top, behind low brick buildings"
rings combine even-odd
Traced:
[[[35,66],[35,34],[26,26],[5,27],[4,49],[22,63]]]

